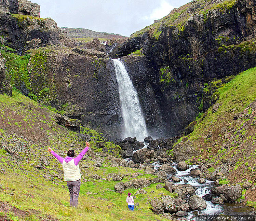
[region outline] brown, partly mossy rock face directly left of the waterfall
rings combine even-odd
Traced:
[[[35,50],[28,71],[33,94],[39,96],[45,87],[50,88],[49,93],[40,96],[39,102],[63,109],[83,126],[97,127],[103,133],[118,136],[109,138],[119,138],[122,119],[118,85],[112,61],[106,54],[65,47]]]

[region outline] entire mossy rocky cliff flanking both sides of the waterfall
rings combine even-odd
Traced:
[[[114,68],[106,54],[110,49],[110,57],[122,57],[156,137],[179,135],[213,105],[218,96],[214,87],[208,88],[211,81],[256,66],[252,0],[190,2],[122,39],[121,45],[97,39],[77,44],[52,19],[34,16],[39,15],[37,5],[1,4],[2,54],[12,85],[111,136],[120,136],[122,119]],[[21,56],[13,59],[10,47]]]

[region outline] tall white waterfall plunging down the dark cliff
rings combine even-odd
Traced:
[[[137,140],[143,141],[147,136],[147,127],[140,108],[137,92],[133,87],[123,62],[119,59],[112,60],[116,72],[122,117],[124,121],[124,138],[136,137]]]

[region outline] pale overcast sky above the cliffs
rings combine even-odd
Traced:
[[[191,0],[30,0],[41,6],[40,17],[58,27],[87,28],[130,36]]]

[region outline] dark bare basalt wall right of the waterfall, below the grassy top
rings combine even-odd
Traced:
[[[182,31],[175,26],[159,31],[158,40],[146,31],[116,47],[110,56],[122,57],[142,49],[145,56],[129,55],[123,61],[147,126],[158,136],[176,136],[198,116],[201,100],[202,112],[216,102],[214,90],[205,96],[205,83],[256,66],[253,50],[244,50],[240,44],[253,42],[256,36],[255,1],[239,0],[228,10],[216,8],[208,12],[207,19],[193,14]],[[192,130],[193,125],[186,133]]]

